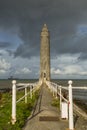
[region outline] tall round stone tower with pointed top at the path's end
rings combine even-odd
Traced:
[[[50,34],[46,24],[41,31],[40,80],[50,80]]]

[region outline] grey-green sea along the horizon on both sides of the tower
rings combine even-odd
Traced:
[[[38,79],[17,79],[17,83],[34,83]],[[69,79],[52,79],[52,82],[57,83],[58,85],[68,87]],[[87,87],[87,79],[72,79],[73,87]],[[0,79],[0,92],[5,92],[12,89],[12,80],[11,79]],[[73,98],[82,100],[87,104],[87,90],[84,89],[73,89]]]

